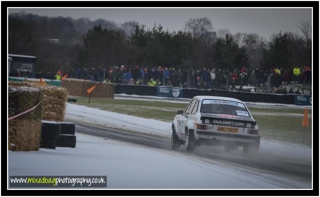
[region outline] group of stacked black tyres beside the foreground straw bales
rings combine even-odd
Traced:
[[[41,121],[40,148],[75,148],[76,136],[74,123]]]

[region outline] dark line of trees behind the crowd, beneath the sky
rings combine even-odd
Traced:
[[[24,13],[8,18],[9,53],[36,56],[37,70],[43,71],[111,65],[230,70],[311,65],[308,22],[299,26],[301,34],[280,32],[267,42],[255,33],[214,30],[208,18],[189,19],[183,31],[162,25],[146,29],[135,21],[116,24]]]

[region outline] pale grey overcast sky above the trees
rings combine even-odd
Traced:
[[[146,27],[161,24],[164,29],[183,29],[189,18],[208,17],[214,30],[227,28],[231,33],[258,33],[266,38],[272,33],[292,31],[299,33],[298,25],[302,21],[310,21],[311,8],[173,8],[173,9],[135,9],[135,8],[32,8],[8,9],[13,12],[32,13],[41,16],[64,16],[74,19],[86,17],[91,20],[99,18],[112,20],[117,24],[126,21],[138,21]]]

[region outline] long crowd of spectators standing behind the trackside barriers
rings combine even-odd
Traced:
[[[23,73],[24,76],[28,73]],[[311,67],[295,66],[290,69],[274,67],[270,70],[246,67],[240,69],[215,69],[204,67],[203,69],[176,69],[175,67],[154,66],[110,66],[106,68],[76,68],[53,70],[47,73],[38,71],[35,78],[48,78],[60,80],[61,75],[67,74],[68,78],[78,78],[97,82],[116,84],[135,84],[148,86],[172,86],[181,88],[198,89],[235,89],[235,86],[257,86],[267,83],[267,77],[271,75],[271,92],[279,92],[279,86],[289,84],[311,84]],[[12,71],[10,76],[22,76],[17,71]],[[276,91],[278,89],[278,91]],[[284,91],[284,90],[281,90]],[[287,90],[286,90],[287,91]]]

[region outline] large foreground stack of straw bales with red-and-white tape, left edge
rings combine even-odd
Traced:
[[[33,107],[37,101],[42,101],[34,111],[9,121],[9,149],[38,150],[41,120],[63,121],[68,91],[38,83],[9,82],[8,85],[9,117],[27,110],[28,107]]]

